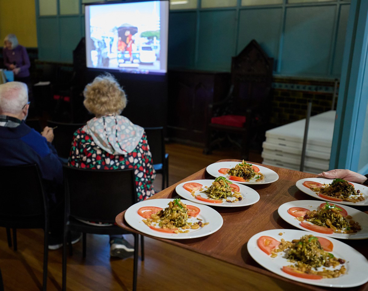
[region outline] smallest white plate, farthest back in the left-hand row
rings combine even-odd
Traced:
[[[218,163],[213,163],[210,164],[209,166],[207,166],[206,171],[212,175],[213,177],[229,177],[229,175],[224,175],[219,173],[219,169],[221,168],[233,168],[235,167],[237,164],[239,164],[240,162],[218,162]],[[257,166],[259,168],[259,172],[261,172],[265,178],[261,181],[256,182],[256,179],[251,179],[249,180],[249,182],[239,182],[239,181],[233,181],[233,180],[229,180],[232,182],[236,182],[236,183],[240,183],[240,184],[246,184],[246,185],[254,185],[254,184],[268,184],[268,183],[272,183],[275,182],[279,179],[279,175],[277,175],[276,172],[272,171],[271,169],[268,169],[266,167],[262,167],[262,166],[258,166],[255,164],[255,166]]]

